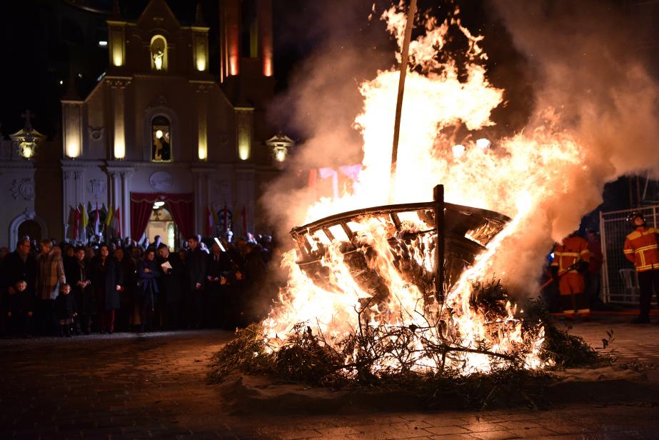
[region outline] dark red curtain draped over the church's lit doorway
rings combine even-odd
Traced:
[[[149,224],[155,201],[164,201],[171,212],[178,231],[186,238],[194,234],[193,194],[132,193],[131,192],[131,234],[139,240]]]

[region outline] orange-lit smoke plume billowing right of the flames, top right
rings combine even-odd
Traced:
[[[505,278],[522,290],[538,274],[550,239],[560,241],[601,203],[604,184],[643,171],[659,174],[659,87],[635,50],[644,24],[610,2],[495,0],[493,6],[536,72],[525,133],[543,126],[553,109],[555,128],[575,139],[583,157],[556,170],[552,192],[530,212],[528,226],[502,246]]]

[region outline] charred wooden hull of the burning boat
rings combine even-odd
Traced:
[[[415,284],[426,302],[434,302],[450,291],[461,275],[474,263],[478,254],[510,221],[507,216],[486,209],[457,204],[443,204],[443,224],[438,228],[435,201],[413,204],[374,206],[298,226],[291,231],[298,251],[297,264],[306,276],[323,289],[339,290],[341,286],[323,264],[328,246],[338,246],[351,276],[361,288],[380,299],[391,295],[391,286],[378,273],[372,246],[360,239],[364,219],[375,219],[385,226],[386,241],[391,247],[394,265],[407,282]],[[438,229],[441,234],[438,235]],[[443,239],[445,251],[441,269],[435,256]],[[439,271],[443,272],[437,289]],[[441,291],[438,291],[441,290]]]

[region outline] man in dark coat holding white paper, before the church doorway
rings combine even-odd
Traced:
[[[176,252],[170,252],[166,244],[158,246],[159,263],[162,271],[160,277],[161,291],[164,294],[165,326],[169,330],[181,326],[178,310],[183,300],[183,282],[185,266]]]

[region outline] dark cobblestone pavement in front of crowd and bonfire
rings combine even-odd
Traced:
[[[610,321],[573,333],[597,345],[613,329],[620,362],[659,364],[659,326]],[[0,341],[0,439],[659,439],[652,401],[544,411],[230,416],[208,359],[224,331]],[[656,370],[649,381],[659,384]]]

